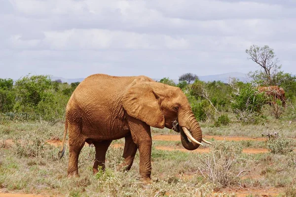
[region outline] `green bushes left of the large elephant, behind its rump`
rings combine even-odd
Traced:
[[[79,82],[52,81],[47,75],[27,75],[15,83],[0,79],[0,113],[4,120],[62,120]]]

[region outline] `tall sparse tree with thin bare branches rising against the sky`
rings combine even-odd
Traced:
[[[251,76],[255,81],[259,81],[262,85],[277,85],[276,75],[281,69],[281,65],[278,65],[279,60],[273,52],[273,49],[265,45],[259,47],[252,45],[250,49],[246,49],[246,53],[250,56],[252,61],[258,64],[262,69],[255,72],[250,72]]]

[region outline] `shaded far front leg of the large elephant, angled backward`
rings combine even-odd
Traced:
[[[125,137],[123,158],[124,161],[117,166],[117,169],[130,170],[135,159],[138,147],[137,144],[133,141],[132,136],[129,134]]]

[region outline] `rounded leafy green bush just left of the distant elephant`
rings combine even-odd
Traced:
[[[231,94],[231,108],[236,117],[242,123],[258,123],[261,117],[261,110],[266,103],[264,93],[247,84],[238,92]]]

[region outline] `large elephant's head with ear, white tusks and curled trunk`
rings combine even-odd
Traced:
[[[158,82],[140,82],[133,85],[122,98],[129,116],[151,127],[164,127],[180,132],[182,145],[195,150],[201,144],[202,132],[190,104],[180,88]],[[189,141],[190,139],[190,141]]]

